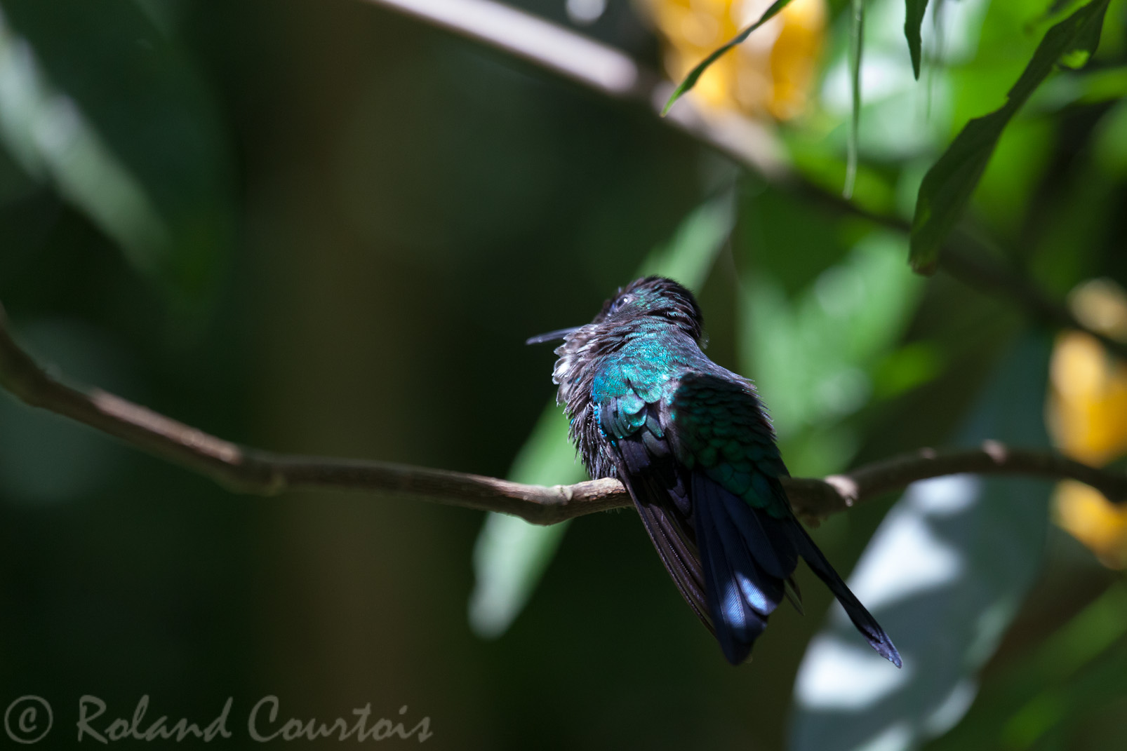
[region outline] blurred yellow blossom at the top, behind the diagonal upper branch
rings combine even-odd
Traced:
[[[681,81],[696,63],[754,23],[771,0],[641,0],[665,39],[665,69]],[[707,106],[778,119],[799,115],[814,83],[826,0],[792,0],[704,71],[694,91]]]

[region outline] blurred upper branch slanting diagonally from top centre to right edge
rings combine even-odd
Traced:
[[[492,0],[365,1],[521,57],[613,99],[642,104],[655,116],[660,115],[673,91],[673,83],[625,53]],[[754,169],[780,188],[816,198],[881,226],[904,233],[911,231],[908,222],[867,211],[792,170],[775,135],[753,119],[729,111],[709,110],[706,114],[686,97],[664,120]],[[965,233],[962,238],[965,242],[948,240],[943,244],[940,268],[973,288],[1013,301],[1037,321],[1085,331],[1117,357],[1127,359],[1127,346],[1122,342],[1092,331],[1030,279],[992,260],[991,254],[983,252],[980,242],[967,241]]]

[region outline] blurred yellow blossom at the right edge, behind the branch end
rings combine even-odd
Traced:
[[[1127,295],[1113,283],[1088,281],[1070,303],[1092,330],[1127,340]],[[1127,454],[1127,365],[1091,336],[1071,331],[1057,338],[1050,378],[1049,426],[1062,452],[1095,466]],[[1064,482],[1055,515],[1104,565],[1127,567],[1127,508],[1088,485]]]

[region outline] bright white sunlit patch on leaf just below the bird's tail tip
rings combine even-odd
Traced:
[[[868,646],[822,635],[810,642],[795,682],[795,696],[807,709],[860,712],[911,678],[911,662],[900,670],[889,670],[888,661]]]

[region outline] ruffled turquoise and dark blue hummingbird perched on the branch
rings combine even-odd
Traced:
[[[677,590],[734,665],[806,561],[873,650],[897,668],[891,640],[795,517],[789,475],[752,382],[702,351],[693,294],[672,279],[636,279],[562,339],[552,372],[570,439],[593,479],[616,477]]]

